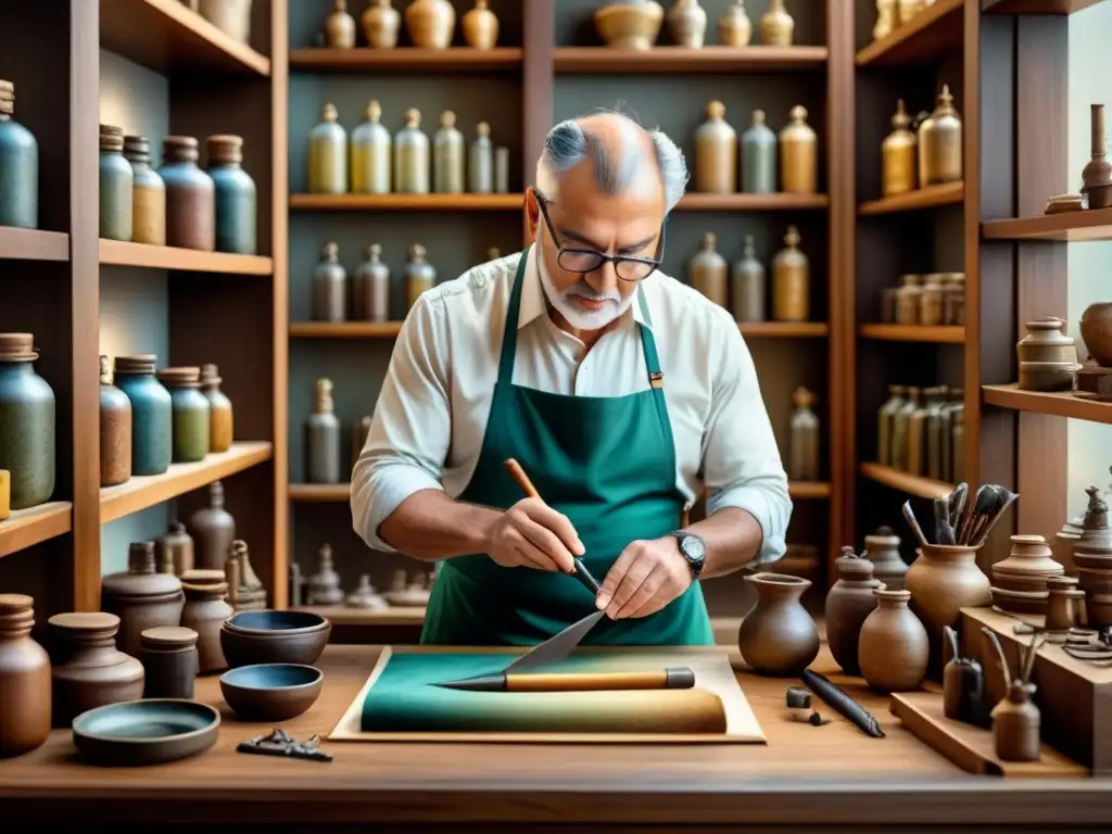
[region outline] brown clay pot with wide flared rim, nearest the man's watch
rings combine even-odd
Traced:
[[[786,574],[745,577],[757,593],[757,604],[737,634],[737,647],[749,667],[762,675],[791,676],[818,656],[818,629],[800,603],[811,583]]]

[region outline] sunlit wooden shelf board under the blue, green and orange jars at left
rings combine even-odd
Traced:
[[[136,476],[119,486],[103,487],[100,490],[100,523],[115,522],[249,469],[269,460],[272,453],[274,446],[265,440],[235,443],[227,451],[208,455],[198,464],[171,464],[162,475]]]

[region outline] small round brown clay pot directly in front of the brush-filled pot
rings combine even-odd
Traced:
[[[931,641],[911,608],[911,592],[873,592],[878,605],[861,627],[861,675],[874,689],[906,692],[926,675]]]

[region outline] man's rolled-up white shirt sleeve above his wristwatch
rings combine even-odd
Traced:
[[[718,322],[715,322],[718,324]],[[784,555],[792,499],[787,475],[761,396],[748,347],[733,321],[716,327],[725,341],[717,351],[711,414],[703,436],[703,480],[707,515],[737,507],[753,516],[763,534],[751,565]]]

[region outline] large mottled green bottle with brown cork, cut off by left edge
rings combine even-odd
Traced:
[[[0,334],[0,469],[10,473],[11,509],[54,492],[54,393],[34,373],[38,358],[31,334]]]

